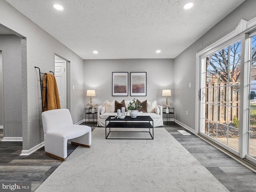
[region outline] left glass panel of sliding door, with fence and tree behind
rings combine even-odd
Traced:
[[[200,134],[238,154],[241,41],[201,61]]]

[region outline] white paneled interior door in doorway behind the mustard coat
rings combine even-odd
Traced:
[[[67,72],[66,61],[55,61],[54,76],[58,85],[61,108],[67,108]]]

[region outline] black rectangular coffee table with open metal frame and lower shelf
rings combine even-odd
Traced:
[[[117,119],[117,118],[111,119],[111,117],[114,117],[114,116],[109,116],[106,119],[106,139],[154,139],[154,124],[150,116],[137,116],[136,118],[131,118],[130,116],[126,116],[124,119]],[[150,122],[152,122],[152,124]],[[107,128],[109,128],[108,134],[107,134]],[[120,130],[111,131],[111,129],[113,130],[114,128],[126,128],[126,131],[120,131]],[[129,130],[129,128],[145,128],[145,129],[148,129],[148,131],[127,131]],[[152,129],[152,134],[150,132],[150,129]],[[108,136],[112,132],[148,132],[150,135],[150,138],[109,138]]]

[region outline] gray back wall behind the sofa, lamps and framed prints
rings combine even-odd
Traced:
[[[158,104],[166,102],[162,89],[174,92],[174,60],[173,59],[116,59],[116,60],[84,60],[84,94],[86,105],[90,97],[86,97],[88,89],[96,90],[92,102],[101,105],[105,100],[132,100],[134,96],[112,96],[112,72],[147,72],[147,96],[137,96],[140,101],[157,100]],[[168,97],[174,102],[174,96]]]

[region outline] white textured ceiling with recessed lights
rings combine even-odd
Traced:
[[[189,0],[6,1],[83,59],[175,58],[244,2],[192,0],[183,10]]]

